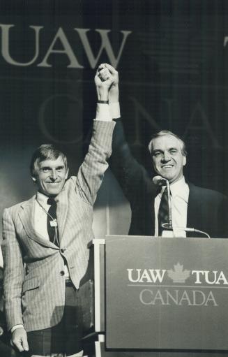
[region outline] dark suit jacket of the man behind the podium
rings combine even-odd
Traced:
[[[114,129],[111,168],[130,203],[132,218],[129,234],[154,235],[154,198],[158,188],[153,185],[146,169],[132,156],[120,119],[116,119]],[[217,191],[203,189],[190,182],[188,184],[187,227],[204,231],[213,238],[226,238],[227,198]],[[193,232],[188,236],[204,235]]]

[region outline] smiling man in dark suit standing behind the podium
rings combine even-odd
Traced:
[[[130,235],[160,235],[160,203],[165,186],[158,190],[146,169],[132,156],[123,132],[119,111],[118,73],[109,64],[100,65],[99,75],[109,70],[114,83],[109,91],[109,107],[116,119],[113,139],[112,171],[128,198],[132,212]],[[175,236],[206,236],[189,232],[195,228],[213,238],[226,238],[227,198],[217,191],[197,187],[185,180],[185,143],[170,131],[160,131],[149,143],[155,173],[169,181],[172,226]],[[187,231],[187,232],[186,232]]]

